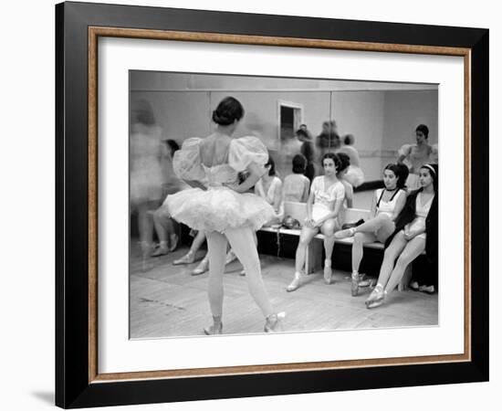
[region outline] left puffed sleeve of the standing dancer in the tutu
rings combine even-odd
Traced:
[[[173,170],[182,180],[203,181],[205,178],[199,151],[201,141],[198,137],[187,139],[182,148],[174,153]]]

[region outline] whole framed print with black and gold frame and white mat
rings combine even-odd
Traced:
[[[56,23],[58,406],[488,379],[486,29]]]

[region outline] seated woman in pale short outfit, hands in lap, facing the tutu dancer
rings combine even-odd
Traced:
[[[319,233],[319,230],[324,234],[324,249],[326,252],[324,280],[327,284],[331,282],[331,254],[335,245],[333,234],[338,228],[337,216],[345,198],[345,187],[337,178],[341,162],[335,153],[324,154],[322,166],[324,167],[324,175],[314,178],[310,187],[309,200],[307,200],[307,219],[301,228],[298,241],[295,277],[286,289],[288,292],[298,290],[301,283],[301,272],[305,265],[307,248],[312,238]]]

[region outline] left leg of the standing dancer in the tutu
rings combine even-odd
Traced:
[[[225,269],[226,237],[216,231],[206,234],[209,254],[209,279],[207,292],[209,305],[214,318],[219,318],[223,312],[223,273]]]

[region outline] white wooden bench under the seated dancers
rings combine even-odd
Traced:
[[[300,224],[303,223],[307,216],[307,205],[305,203],[295,203],[295,202],[285,202],[284,203],[284,211],[285,216],[292,216]],[[342,210],[339,216],[340,225],[345,223],[354,223],[361,218],[368,219],[370,216],[370,210],[364,210],[361,208],[345,208]],[[301,230],[300,229],[289,229],[285,227],[262,227],[260,231],[270,232],[270,233],[278,233],[280,235],[285,236],[297,236],[299,237]],[[317,241],[316,241],[317,240]],[[319,241],[321,240],[321,241]],[[310,274],[322,268],[322,252],[323,252],[323,243],[324,235],[319,233],[314,237],[309,244],[309,248],[307,250],[307,256],[305,261],[306,273]],[[337,239],[336,243],[346,244],[351,246],[353,243],[353,237]],[[373,242],[364,245],[364,248],[373,248],[377,250],[382,250],[383,252],[383,244],[380,242]],[[412,266],[410,264],[406,270],[404,271],[403,279],[401,280],[398,290],[405,290],[412,278]]]

